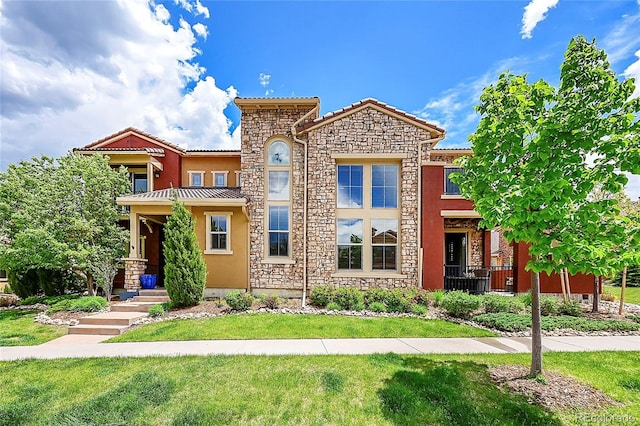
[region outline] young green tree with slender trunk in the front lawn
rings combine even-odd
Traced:
[[[609,275],[616,265],[608,256],[629,236],[617,203],[589,194],[596,187],[620,192],[623,172],[640,173],[640,100],[630,99],[633,90],[595,41],[576,37],[557,89],[504,73],[476,107],[473,157],[461,160],[466,173],[454,179],[474,200],[482,226],[500,226],[507,239],[529,244],[532,375],[542,372],[539,273]]]

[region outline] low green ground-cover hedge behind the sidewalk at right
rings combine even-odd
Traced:
[[[500,331],[514,332],[531,328],[531,316],[523,314],[482,314],[473,317],[478,324]],[[577,331],[636,331],[639,324],[617,320],[592,320],[571,316],[547,316],[542,318],[543,330],[573,329]]]

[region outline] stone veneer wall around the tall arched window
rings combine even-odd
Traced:
[[[249,198],[249,283],[252,289],[302,290],[304,147],[293,141],[291,125],[309,111],[257,109],[242,111],[242,192]],[[311,119],[315,117],[312,116]],[[291,143],[292,223],[294,264],[265,263],[265,144],[273,136]]]

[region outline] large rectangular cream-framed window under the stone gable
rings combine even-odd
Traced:
[[[337,166],[339,271],[398,270],[399,173],[398,164]]]

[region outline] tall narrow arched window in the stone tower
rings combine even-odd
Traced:
[[[282,140],[267,146],[267,257],[290,258],[291,147]]]

